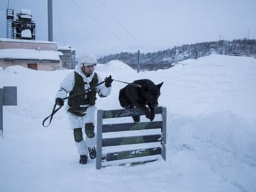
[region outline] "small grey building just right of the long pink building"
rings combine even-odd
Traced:
[[[58,51],[62,52],[60,55],[62,60],[62,67],[67,69],[74,69],[76,66],[76,50],[71,46],[59,46]]]

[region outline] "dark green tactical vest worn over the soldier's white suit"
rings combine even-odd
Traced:
[[[68,112],[73,113],[76,116],[85,116],[84,113],[90,105],[95,105],[96,100],[96,88],[92,88],[85,93],[85,84],[83,77],[74,71],[75,80],[73,90],[69,93]],[[93,79],[90,82],[90,87],[98,84],[98,75],[94,73]]]

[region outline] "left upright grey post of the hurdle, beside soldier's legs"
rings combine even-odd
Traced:
[[[97,148],[96,148],[96,169],[101,169],[102,156],[102,110],[97,112]]]

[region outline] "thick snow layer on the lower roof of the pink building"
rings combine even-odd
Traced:
[[[37,51],[35,49],[0,49],[0,59],[60,60],[59,51]]]

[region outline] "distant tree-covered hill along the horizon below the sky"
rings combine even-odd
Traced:
[[[155,70],[170,68],[175,62],[185,59],[197,59],[210,54],[256,55],[256,40],[220,40],[196,44],[183,44],[172,49],[140,54],[141,69]],[[137,68],[137,52],[121,52],[98,59],[99,63],[121,60],[133,69]]]

